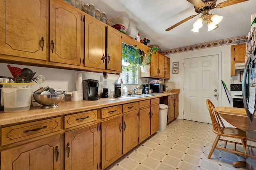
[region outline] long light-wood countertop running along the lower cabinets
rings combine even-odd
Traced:
[[[164,93],[154,93],[154,96],[149,97],[120,97],[120,98],[100,98],[96,101],[71,101],[71,102],[61,102],[59,107],[42,109],[40,107],[30,107],[28,111],[6,113],[0,111],[0,126],[9,125],[13,123],[21,123],[25,121],[33,121],[37,119],[45,119],[50,117],[57,117],[62,115],[68,115],[71,113],[79,113],[92,109],[100,109],[104,107],[110,107],[115,105],[122,105],[125,103],[131,103],[136,101],[142,101],[146,99],[154,99],[157,97],[164,97],[168,95],[174,95],[179,93],[175,92],[164,92]]]

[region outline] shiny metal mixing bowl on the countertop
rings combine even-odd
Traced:
[[[58,103],[62,101],[64,98],[65,93],[60,93],[56,95],[36,95],[33,94],[33,97],[35,101],[42,106],[42,108],[54,108],[54,107],[59,107]]]

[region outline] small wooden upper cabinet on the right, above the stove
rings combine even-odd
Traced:
[[[237,44],[237,45],[231,45],[231,76],[236,75],[236,63],[245,63],[245,53],[246,53],[246,47],[245,43]]]

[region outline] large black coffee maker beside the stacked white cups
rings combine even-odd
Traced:
[[[98,100],[98,80],[83,80],[84,100]]]

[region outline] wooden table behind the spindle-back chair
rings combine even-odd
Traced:
[[[250,130],[250,120],[247,117],[244,108],[237,107],[215,107],[214,111],[218,112],[220,116],[228,123],[243,131]],[[254,125],[256,127],[256,125]],[[253,129],[255,129],[253,127]],[[235,167],[246,167],[246,160],[237,161],[232,163]]]

